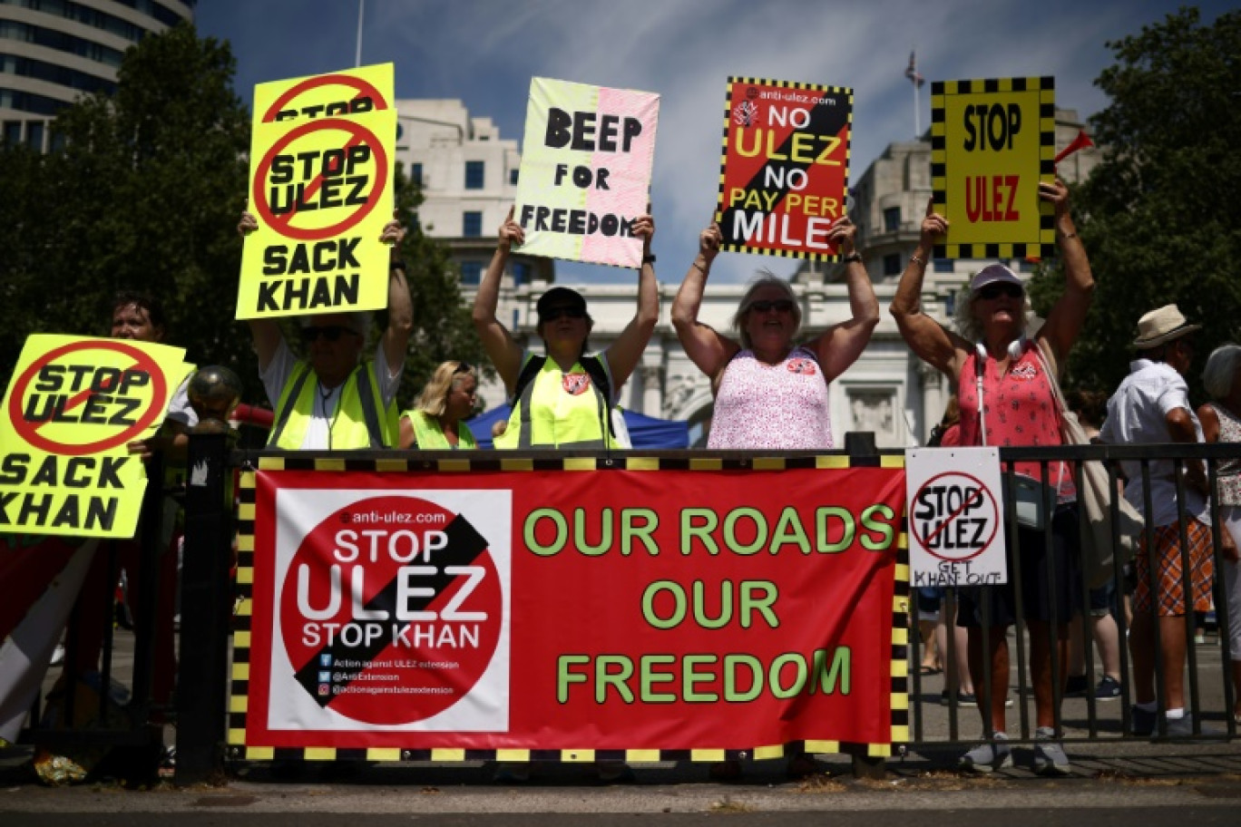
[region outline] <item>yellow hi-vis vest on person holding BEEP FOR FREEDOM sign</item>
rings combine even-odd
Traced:
[[[611,403],[582,367],[583,361],[594,360],[596,372],[602,371],[611,383],[607,360],[583,356],[563,373],[555,360],[529,355],[526,361],[534,358],[544,358],[544,365],[532,382],[519,388],[509,428],[495,448],[614,448],[608,430]]]

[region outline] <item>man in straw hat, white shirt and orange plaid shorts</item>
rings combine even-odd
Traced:
[[[1184,373],[1194,358],[1191,325],[1176,305],[1165,305],[1138,320],[1133,346],[1139,358],[1129,365],[1129,376],[1107,402],[1107,420],[1100,438],[1111,444],[1160,444],[1201,441],[1201,428],[1189,405],[1189,387]],[[1175,464],[1172,460],[1149,462],[1152,512],[1147,512],[1147,490],[1138,460],[1121,460],[1126,477],[1124,498],[1147,521],[1140,546],[1134,554],[1137,591],[1133,595],[1133,627],[1129,650],[1133,653],[1134,699],[1133,732],[1148,735],[1157,730],[1162,708],[1169,735],[1193,733],[1193,714],[1185,710],[1185,632],[1186,615],[1194,609],[1210,608],[1214,560],[1210,516],[1206,511],[1206,475],[1201,462],[1184,462],[1185,501],[1176,497]],[[1181,506],[1184,517],[1181,517]],[[1154,531],[1154,570],[1147,551],[1147,534]],[[1181,532],[1188,548],[1180,543]],[[1220,532],[1225,557],[1237,559],[1237,549],[1227,531]],[[1191,593],[1185,594],[1183,554],[1189,560]],[[1158,600],[1152,595],[1158,594]],[[1155,605],[1158,604],[1158,605]],[[1158,637],[1155,636],[1158,625]],[[1158,641],[1158,647],[1155,641]],[[1155,658],[1162,665],[1163,697],[1155,699]]]

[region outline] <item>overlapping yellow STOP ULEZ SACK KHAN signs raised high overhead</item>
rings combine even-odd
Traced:
[[[392,64],[254,87],[237,319],[387,306]]]

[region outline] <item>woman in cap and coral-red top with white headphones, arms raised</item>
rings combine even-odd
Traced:
[[[990,264],[974,275],[968,295],[958,301],[959,332],[942,327],[922,312],[927,258],[936,238],[948,231],[948,222],[932,211],[932,205],[927,205],[918,247],[892,299],[891,312],[905,341],[925,362],[952,377],[957,387],[962,445],[1062,444],[1051,386],[1055,377],[1047,376],[1044,367],[1059,372],[1064,365],[1086,320],[1095,279],[1069,214],[1069,188],[1060,180],[1044,182],[1039,185],[1039,197],[1054,205],[1065,289],[1033,340],[1026,337],[1025,286],[1003,264]],[[1040,462],[1015,462],[1014,471],[1041,479]],[[1020,565],[1021,605],[1030,630],[1030,679],[1037,725],[1034,770],[1041,775],[1066,775],[1069,758],[1056,740],[1059,693],[1052,687],[1051,657],[1055,651],[1056,673],[1064,681],[1069,673],[1069,621],[1081,594],[1075,564],[1077,506],[1071,469],[1064,462],[1051,462],[1049,475],[1059,501],[1049,521],[1051,559],[1041,529],[1019,527],[1019,548],[1008,551],[1009,569]],[[1054,572],[1050,578],[1049,572]],[[984,601],[989,605],[984,606]],[[969,631],[969,671],[987,738],[962,756],[964,769],[990,772],[1013,764],[1005,743],[1004,704],[1009,683],[1005,632],[1016,622],[1015,606],[1011,582],[962,590],[957,622]],[[983,617],[989,617],[988,629],[983,629]]]

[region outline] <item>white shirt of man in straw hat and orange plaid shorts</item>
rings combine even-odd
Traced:
[[[1203,441],[1203,427],[1189,404],[1189,386],[1176,368],[1163,362],[1137,360],[1129,363],[1129,376],[1107,400],[1107,420],[1098,436],[1113,445],[1142,445],[1150,443],[1170,443],[1168,433],[1168,414],[1178,408],[1185,410],[1194,422],[1198,441]],[[1175,466],[1172,460],[1150,460],[1150,505],[1153,515],[1147,517],[1154,526],[1170,526],[1176,522],[1176,481]],[[1142,484],[1142,462],[1122,460],[1121,470],[1128,480],[1124,485],[1124,498],[1145,513],[1145,490]],[[1206,502],[1203,495],[1185,489],[1185,513],[1198,517],[1210,524]]]

